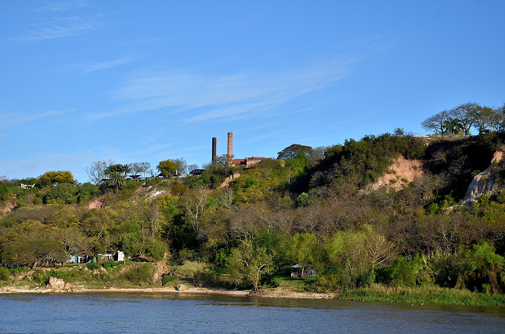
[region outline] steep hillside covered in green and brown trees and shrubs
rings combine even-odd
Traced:
[[[384,134],[346,140],[319,160],[294,152],[117,188],[14,182],[3,190],[0,254],[15,266],[117,250],[174,268],[197,260],[204,265],[173,274],[254,291],[283,284],[299,264],[295,275],[312,291],[381,284],[503,293],[503,139]],[[464,202],[471,183],[474,202]]]

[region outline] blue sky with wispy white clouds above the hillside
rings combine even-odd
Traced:
[[[505,101],[505,2],[4,1],[0,176],[201,164]]]

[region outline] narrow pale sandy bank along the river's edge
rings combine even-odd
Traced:
[[[104,293],[104,292],[114,292],[114,293],[177,293],[177,294],[212,294],[212,295],[223,295],[223,296],[234,296],[234,297],[248,297],[248,290],[224,290],[217,288],[188,288],[185,291],[178,291],[173,287],[163,287],[163,288],[110,288],[110,289],[84,289],[76,287],[72,291],[59,291],[56,293]],[[55,293],[54,290],[45,288],[36,289],[24,289],[20,287],[4,287],[0,289],[0,294],[24,294],[24,293]],[[285,289],[269,289],[263,290],[260,296],[261,298],[311,298],[311,299],[323,299],[323,298],[334,298],[334,294],[322,294],[322,293],[310,293],[310,292],[295,292]]]

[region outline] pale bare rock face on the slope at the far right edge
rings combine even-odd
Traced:
[[[491,165],[482,173],[477,174],[465,194],[463,201],[475,202],[481,195],[491,195],[498,190],[505,190],[505,183],[497,180],[498,162],[503,158],[503,152],[496,151]]]

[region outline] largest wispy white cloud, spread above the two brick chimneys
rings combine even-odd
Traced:
[[[172,113],[188,115],[178,117],[179,122],[186,124],[275,113],[282,104],[343,78],[355,61],[330,60],[288,71],[229,75],[148,69],[112,92],[115,99],[128,103],[126,107],[86,118],[100,119],[167,107]]]

